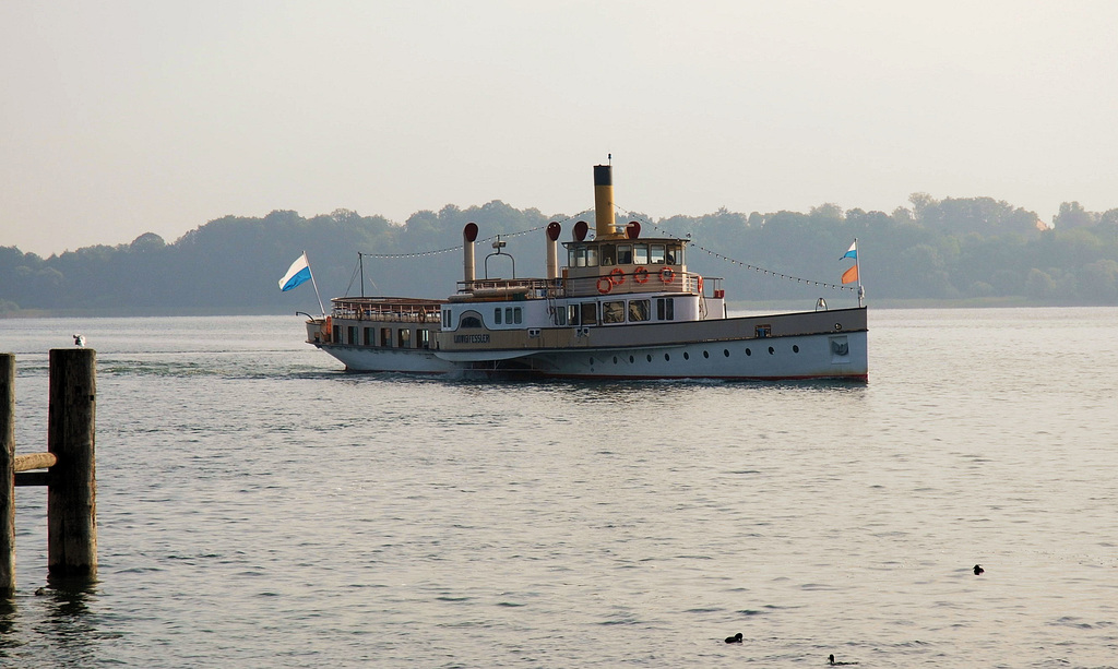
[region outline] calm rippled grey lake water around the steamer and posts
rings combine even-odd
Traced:
[[[1118,309],[872,310],[868,384],[350,375],[293,316],[0,321],[20,452],[74,332],[100,582],[36,594],[17,489],[4,667],[1118,665]]]

